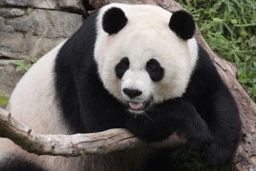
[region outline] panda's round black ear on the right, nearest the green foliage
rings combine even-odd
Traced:
[[[184,10],[175,11],[170,19],[169,27],[183,40],[191,39],[195,32],[193,17]]]

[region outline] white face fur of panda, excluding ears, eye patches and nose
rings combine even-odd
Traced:
[[[120,8],[128,18],[127,25],[113,35],[102,28],[102,16],[111,7]],[[195,38],[184,41],[168,27],[171,15],[148,5],[112,4],[99,11],[95,60],[103,85],[119,101],[129,101],[122,93],[124,87],[143,91],[138,98],[140,101],[153,96],[153,104],[181,97],[184,93],[196,65],[198,45]],[[129,58],[130,68],[120,80],[115,74],[115,66],[123,57]],[[164,68],[160,82],[153,82],[145,70],[151,58]]]

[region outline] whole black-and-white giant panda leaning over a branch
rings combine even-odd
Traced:
[[[208,166],[230,160],[239,110],[191,15],[111,4],[91,15],[16,85],[11,114],[41,134],[127,128],[144,141],[174,132],[200,148]],[[36,156],[0,139],[0,170],[172,170],[168,149],[139,147],[76,158]]]

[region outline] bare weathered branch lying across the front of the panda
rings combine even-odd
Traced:
[[[177,135],[162,142],[144,142],[122,128],[90,134],[41,135],[33,132],[24,123],[16,121],[9,111],[2,108],[0,136],[10,139],[30,153],[64,157],[106,154],[145,145],[164,147],[185,142]]]

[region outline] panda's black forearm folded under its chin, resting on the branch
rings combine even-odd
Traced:
[[[125,123],[126,128],[147,141],[166,139],[176,131],[188,142],[197,146],[204,146],[212,141],[207,124],[197,113],[193,104],[185,99],[176,98],[158,104],[156,107],[159,108],[158,112],[153,115],[134,117]]]

